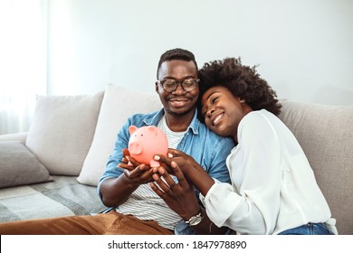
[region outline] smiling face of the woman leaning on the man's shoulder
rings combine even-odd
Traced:
[[[219,136],[232,136],[237,141],[239,123],[252,109],[223,86],[207,89],[201,104],[205,125]]]

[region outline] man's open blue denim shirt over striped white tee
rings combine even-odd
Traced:
[[[136,114],[128,118],[126,124],[119,131],[115,148],[109,157],[105,172],[100,178],[97,191],[100,192],[100,184],[106,178],[119,177],[123,173],[122,168],[117,168],[121,163],[122,149],[129,144],[129,126],[157,126],[164,109],[149,114]],[[197,119],[197,112],[191,121],[176,149],[192,156],[211,177],[220,182],[230,183],[229,172],[225,164],[226,157],[231,153],[234,141],[228,137],[217,136]],[[198,195],[198,191],[196,194]],[[176,225],[175,234],[195,234],[184,220]]]

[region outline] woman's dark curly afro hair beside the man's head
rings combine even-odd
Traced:
[[[263,80],[253,68],[244,66],[240,58],[225,58],[223,61],[210,61],[204,64],[199,71],[200,96],[198,99],[198,111],[201,111],[201,98],[206,89],[215,86],[224,86],[229,89],[235,97],[242,98],[253,108],[262,108],[272,112],[274,115],[281,113],[276,92]]]

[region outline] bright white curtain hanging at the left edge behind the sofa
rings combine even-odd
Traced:
[[[47,0],[0,0],[0,135],[28,131],[46,93]]]

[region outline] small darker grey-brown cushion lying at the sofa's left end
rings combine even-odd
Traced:
[[[18,141],[0,142],[0,188],[52,181],[47,169]]]

